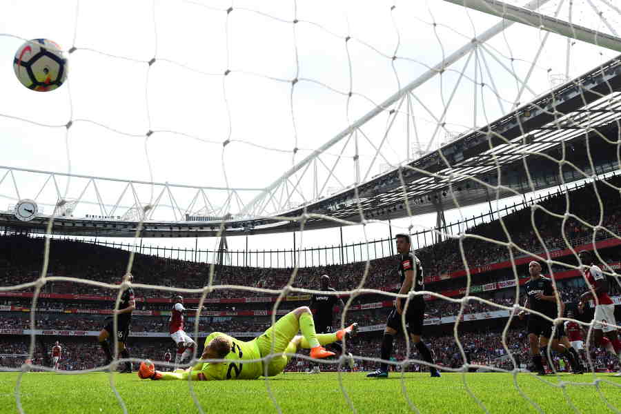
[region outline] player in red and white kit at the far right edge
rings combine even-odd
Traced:
[[[595,302],[595,324],[593,325],[593,339],[597,346],[601,346],[609,353],[621,359],[621,341],[617,336],[615,325],[615,305],[610,296],[609,283],[599,266],[593,264],[591,252],[582,250],[580,262],[584,268],[584,279],[589,290],[580,295],[578,312],[582,313],[584,304],[593,299]],[[593,295],[593,293],[595,295]]]

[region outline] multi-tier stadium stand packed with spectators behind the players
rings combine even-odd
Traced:
[[[621,179],[613,178],[615,186],[621,185]],[[615,234],[621,233],[618,223],[621,199],[618,193],[602,183],[595,184],[598,193],[605,200],[603,203],[602,226]],[[593,188],[584,186],[568,193],[570,213],[580,216],[591,225],[598,224],[600,209],[593,208],[593,202],[580,202],[584,199],[593,200]],[[546,248],[553,250],[556,260],[575,265],[575,257],[568,250],[559,229],[564,229],[571,246],[588,245],[593,240],[593,230],[588,226],[568,217],[562,226],[562,220],[544,212],[565,213],[566,199],[564,195],[548,197],[538,204],[538,208],[524,208],[502,218],[511,233],[511,241],[524,250],[543,254],[543,246],[532,230],[532,226],[524,226],[531,219],[540,231]],[[491,239],[507,241],[506,233],[499,220],[480,224],[469,228],[468,233]],[[595,233],[598,253],[612,269],[621,267],[621,239],[604,231]],[[588,248],[588,247],[587,247]],[[592,249],[592,245],[590,247]],[[119,282],[128,259],[125,250],[97,246],[72,240],[52,239],[50,243],[50,266],[48,275],[80,277],[101,282]],[[41,257],[32,256],[32,252],[43,251],[43,240],[26,235],[7,234],[0,236],[0,286],[32,282],[39,277]],[[465,239],[463,252],[472,274],[471,295],[491,300],[496,304],[511,306],[515,302],[515,276],[509,260],[509,250],[498,244]],[[459,242],[449,239],[417,250],[426,275],[426,289],[443,293],[449,297],[464,295],[465,270]],[[517,277],[520,284],[526,279],[526,266],[531,256],[513,249]],[[492,259],[490,259],[492,258]],[[395,260],[385,257],[371,261],[365,287],[394,290],[397,277],[393,274]],[[201,288],[204,286],[209,272],[209,265],[186,262],[175,259],[163,259],[149,255],[136,255],[132,273],[135,282],[177,286],[183,288]],[[300,268],[293,286],[300,288],[316,288],[318,277],[324,273],[331,275],[333,286],[339,290],[355,288],[364,273],[364,262],[335,266],[317,266]],[[553,274],[562,299],[569,306],[575,306],[580,293],[584,292],[584,281],[576,270],[564,266],[546,268],[544,273]],[[261,286],[266,288],[282,288],[288,282],[290,268],[251,268],[239,266],[222,266],[217,268],[216,283],[239,284],[245,286]],[[612,284],[612,295],[615,303],[621,304],[620,285]],[[137,311],[132,319],[132,339],[130,347],[132,355],[147,357],[164,355],[172,348],[168,338],[168,317],[170,315],[170,294],[159,290],[136,289],[139,297]],[[110,315],[110,306],[115,298],[115,290],[106,290],[85,284],[50,282],[44,286],[37,303],[35,326],[41,339],[37,342],[35,363],[45,363],[46,353],[55,340],[61,341],[64,351],[61,368],[68,370],[94,368],[101,364],[103,354],[95,344],[96,332],[103,326],[103,320]],[[197,302],[192,295],[187,295],[189,303]],[[196,297],[196,295],[195,295]],[[244,297],[252,297],[247,301]],[[430,298],[431,299],[431,298]],[[0,366],[19,366],[23,362],[10,355],[27,353],[30,331],[30,305],[32,289],[11,290],[0,292],[0,347],[3,353]],[[275,296],[264,293],[248,293],[235,290],[215,290],[209,293],[201,313],[199,332],[211,331],[258,333],[264,331],[271,321],[272,311],[276,317],[286,313],[288,309],[306,304],[308,295],[294,294],[273,309]],[[520,303],[524,298],[520,297]],[[386,313],[392,306],[391,298],[383,295],[359,295],[346,315],[346,322],[359,322],[366,328],[353,341],[349,351],[362,357],[376,357]],[[462,356],[455,343],[452,329],[460,304],[442,300],[429,300],[426,308],[428,315],[426,324],[429,334],[426,340],[435,352],[437,362],[444,366],[461,366]],[[621,306],[617,306],[617,315]],[[504,313],[503,313],[504,312]],[[471,300],[464,307],[462,324],[460,324],[460,341],[473,364],[484,364],[501,368],[511,368],[511,361],[506,358],[497,331],[502,328],[509,311]],[[190,315],[191,316],[191,315]],[[621,316],[621,315],[620,315]],[[585,321],[591,316],[583,315]],[[188,320],[188,333],[194,331],[193,317]],[[618,317],[621,320],[621,317]],[[485,322],[482,322],[484,320]],[[339,313],[335,313],[335,326],[340,324]],[[524,322],[517,319],[513,322],[507,337],[511,352],[522,360],[528,360],[527,341],[524,336]],[[199,338],[200,339],[200,338]],[[200,342],[200,341],[197,341]],[[97,350],[93,352],[93,350]],[[397,360],[405,357],[405,344],[400,339],[395,345]],[[611,364],[611,359],[595,347],[591,348],[596,366],[601,369]],[[415,353],[411,354],[411,357]],[[302,360],[291,362],[291,371],[307,368],[308,363]],[[373,364],[359,362],[358,369],[371,369]],[[526,367],[526,365],[524,365]],[[328,366],[326,369],[335,368]],[[418,369],[411,366],[408,369]]]

